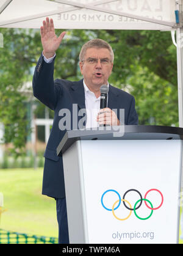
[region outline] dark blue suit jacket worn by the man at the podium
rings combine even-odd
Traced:
[[[34,96],[48,108],[54,110],[54,120],[45,150],[45,166],[43,172],[42,193],[49,197],[65,197],[62,156],[57,156],[56,149],[65,131],[59,129],[60,109],[69,109],[71,112],[71,128],[73,127],[73,104],[77,104],[77,111],[85,109],[85,93],[83,79],[54,81],[54,61],[47,64],[41,56],[35,67],[32,81]],[[108,108],[124,109],[124,124],[137,125],[138,116],[135,111],[135,100],[132,95],[109,85]],[[118,111],[119,112],[119,111]],[[119,115],[119,113],[118,113]],[[82,117],[78,117],[79,119]],[[118,116],[119,119],[119,116]]]

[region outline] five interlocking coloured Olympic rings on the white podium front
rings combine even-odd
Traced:
[[[129,192],[131,192],[131,191],[137,192],[137,194],[140,196],[140,199],[137,200],[137,202],[135,202],[134,207],[132,207],[131,203],[129,203],[129,201],[127,201],[127,200],[125,199],[126,194],[129,193]],[[160,202],[160,205],[159,205],[158,207],[156,207],[156,208],[153,208],[152,203],[151,203],[148,199],[146,199],[148,193],[151,192],[151,191],[157,191],[157,192],[159,192],[159,194],[160,194],[160,196],[161,196],[161,198],[162,198],[162,200],[161,200],[161,202]],[[112,209],[107,208],[107,207],[104,205],[104,203],[103,203],[104,196],[107,194],[107,192],[115,192],[115,193],[117,194],[117,196],[119,197],[119,200],[117,200],[115,203],[113,203]],[[149,216],[146,217],[146,218],[141,218],[141,217],[138,216],[138,214],[137,214],[137,210],[138,210],[138,208],[141,207],[143,201],[145,202],[146,207],[148,207],[148,208],[151,210],[151,213],[150,213]],[[115,210],[117,210],[117,209],[120,207],[121,202],[123,202],[124,207],[126,207],[126,208],[130,211],[129,214],[128,214],[128,216],[127,216],[126,218],[123,218],[123,219],[118,218],[118,217],[116,216],[116,214],[115,214]],[[140,203],[139,203],[139,202],[140,202]],[[150,205],[151,207],[148,205],[147,202],[149,203],[149,205]],[[114,190],[114,189],[108,189],[108,190],[106,190],[106,191],[102,194],[101,203],[102,203],[102,207],[104,207],[104,209],[106,209],[107,211],[112,211],[113,216],[114,216],[116,219],[118,219],[119,221],[125,221],[126,219],[128,219],[128,218],[131,216],[132,211],[134,211],[134,214],[135,214],[135,216],[136,216],[138,219],[142,219],[143,221],[145,221],[146,219],[149,219],[149,218],[152,216],[152,213],[153,213],[154,210],[157,210],[157,209],[159,209],[160,207],[162,207],[162,204],[163,204],[163,194],[162,194],[162,192],[160,192],[158,189],[152,188],[152,189],[149,189],[149,190],[146,192],[144,198],[142,198],[142,194],[140,194],[140,192],[139,192],[137,189],[129,189],[129,190],[127,190],[127,191],[124,193],[123,199],[121,199],[120,194],[119,194],[116,190]],[[139,205],[137,206],[138,203],[139,203]],[[127,205],[126,205],[126,204],[127,204]]]

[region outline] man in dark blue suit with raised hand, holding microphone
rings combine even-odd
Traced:
[[[113,51],[104,40],[93,39],[82,46],[79,67],[84,79],[75,82],[63,79],[54,81],[54,59],[64,35],[65,32],[62,32],[59,37],[56,36],[52,19],[49,21],[49,18],[46,18],[46,21],[43,21],[41,26],[43,53],[38,60],[33,78],[34,96],[54,110],[52,130],[44,155],[42,193],[56,199],[59,243],[69,243],[62,156],[57,156],[56,153],[57,146],[66,132],[66,129],[60,128],[62,115],[60,111],[68,109],[70,112],[71,129],[78,128],[73,120],[76,120],[75,115],[80,109],[86,109],[85,128],[101,124],[120,125],[120,112],[112,109],[124,109],[125,125],[138,123],[134,97],[111,86],[108,82],[113,68]],[[108,103],[107,108],[100,110],[100,87],[103,84],[109,87]],[[73,111],[73,106],[77,106],[76,111]],[[92,109],[98,109],[98,114],[93,115]],[[91,113],[90,118],[89,113]],[[81,118],[77,116],[78,122]]]

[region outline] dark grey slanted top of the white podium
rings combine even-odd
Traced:
[[[75,141],[183,139],[183,128],[156,125],[122,125],[66,131],[57,147],[60,156]]]

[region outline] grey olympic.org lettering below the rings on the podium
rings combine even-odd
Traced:
[[[116,232],[112,234],[112,238],[114,240],[133,240],[133,239],[142,239],[142,238],[147,238],[147,239],[154,239],[154,232]]]

